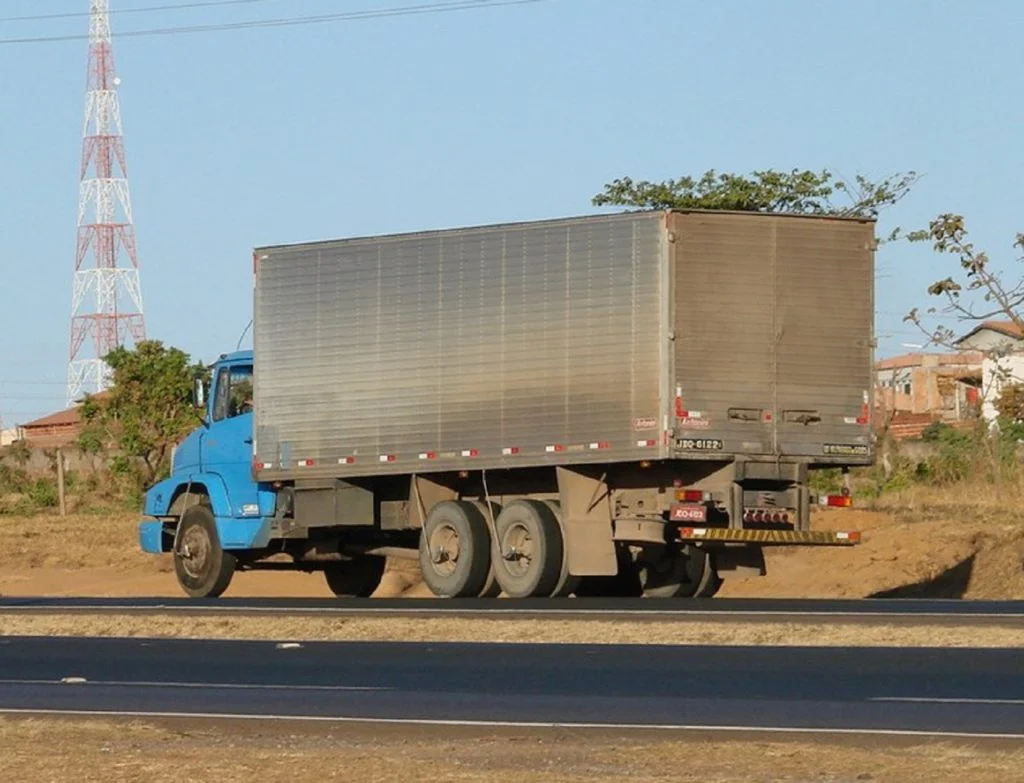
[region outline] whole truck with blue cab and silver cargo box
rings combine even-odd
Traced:
[[[640,210],[257,247],[252,350],[139,543],[182,591],[389,559],[439,598],[714,596],[852,505],[871,437],[874,221]],[[811,491],[829,470],[831,493]]]

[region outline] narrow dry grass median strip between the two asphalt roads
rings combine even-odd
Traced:
[[[456,617],[0,614],[0,636],[813,647],[1024,648],[1024,627]]]

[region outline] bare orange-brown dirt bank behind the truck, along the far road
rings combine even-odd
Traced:
[[[896,497],[878,511],[814,515],[857,529],[855,548],[767,551],[768,575],[730,577],[722,597],[1024,599],[1024,522],[1006,504]],[[957,506],[956,502],[961,505]],[[0,595],[180,597],[168,556],[139,551],[138,516],[0,516]],[[237,574],[227,596],[329,597],[317,573]],[[429,597],[418,568],[394,561],[378,597]]]

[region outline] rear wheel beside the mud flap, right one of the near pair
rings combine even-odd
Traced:
[[[550,596],[562,573],[562,531],[547,504],[513,501],[496,522],[498,583],[509,598]]]

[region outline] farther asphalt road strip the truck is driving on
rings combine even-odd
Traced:
[[[1011,625],[1024,627],[1024,601],[813,599],[291,599],[291,598],[0,598],[0,614],[332,614],[337,616],[601,617],[722,621],[827,620]]]

